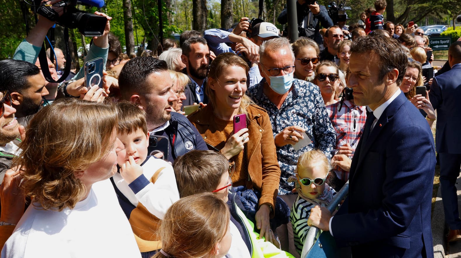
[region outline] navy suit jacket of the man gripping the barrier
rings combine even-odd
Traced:
[[[349,196],[331,222],[353,257],[433,257],[434,139],[401,92],[352,160]]]

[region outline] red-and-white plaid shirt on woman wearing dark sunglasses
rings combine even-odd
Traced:
[[[338,111],[340,104],[340,102],[337,102],[328,105],[326,106],[326,110],[330,116],[331,124],[335,128],[336,149],[338,150],[339,147],[349,143],[353,149],[352,155],[350,156],[352,159],[355,148],[357,148],[360,137],[362,136],[363,128],[365,127],[366,108],[356,106],[349,100],[344,100],[341,111]],[[335,173],[338,178],[344,180],[344,182],[349,179],[349,172],[343,171],[341,168],[335,170]]]

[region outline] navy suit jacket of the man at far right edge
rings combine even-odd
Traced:
[[[436,149],[439,153],[461,154],[461,63],[432,80],[429,100],[437,109]]]

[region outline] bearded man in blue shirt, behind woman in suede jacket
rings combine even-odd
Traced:
[[[208,49],[207,40],[202,37],[192,37],[184,41],[183,54],[181,60],[186,65],[183,72],[189,75],[189,90],[186,90],[186,100],[184,105],[193,103],[208,103],[208,97],[205,94],[207,86],[208,65],[210,63],[210,50]]]

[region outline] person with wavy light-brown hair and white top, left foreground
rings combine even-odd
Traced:
[[[74,98],[35,114],[16,160],[32,204],[2,257],[140,257],[107,180],[124,148],[117,123],[114,106]]]

